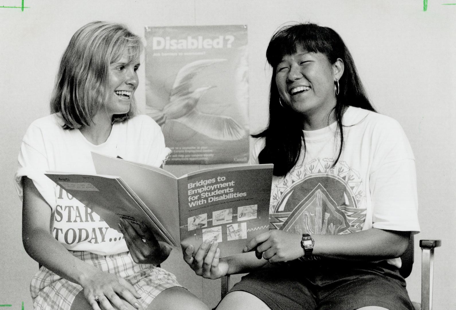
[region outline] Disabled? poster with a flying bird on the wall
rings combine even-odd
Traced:
[[[247,26],[145,27],[145,113],[167,164],[249,159]]]

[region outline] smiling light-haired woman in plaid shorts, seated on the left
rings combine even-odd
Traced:
[[[160,126],[135,116],[141,51],[140,37],[123,25],[81,27],[61,59],[52,114],[34,121],[23,138],[16,189],[23,196],[23,244],[41,265],[30,285],[34,309],[207,309],[156,267],[170,247],[150,233],[139,236],[128,222],[121,232],[110,228],[44,175],[96,173],[91,152],[157,167],[165,162],[170,150]]]

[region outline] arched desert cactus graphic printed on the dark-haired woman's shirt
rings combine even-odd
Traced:
[[[360,173],[332,158],[303,163],[281,177],[271,192],[271,227],[292,233],[345,234],[361,231],[366,194]]]

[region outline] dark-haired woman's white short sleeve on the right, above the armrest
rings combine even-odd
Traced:
[[[369,177],[373,227],[419,232],[415,158],[399,123],[383,126]]]

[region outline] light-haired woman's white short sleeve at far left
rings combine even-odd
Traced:
[[[44,174],[49,169],[43,135],[33,123],[29,126],[22,140],[18,156],[18,169],[15,174],[16,192],[22,200],[22,177],[33,181],[36,189],[50,205],[56,205],[55,184]]]

